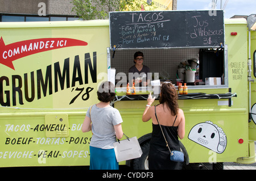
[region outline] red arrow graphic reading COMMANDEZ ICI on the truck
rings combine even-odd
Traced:
[[[0,64],[6,65],[14,69],[13,61],[31,54],[46,52],[48,50],[86,46],[88,43],[76,39],[67,38],[44,38],[19,41],[9,45],[5,45],[3,39],[0,39]],[[15,69],[14,69],[15,70]]]

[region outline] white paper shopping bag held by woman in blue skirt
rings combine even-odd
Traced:
[[[114,142],[115,158],[117,162],[126,161],[128,159],[139,158],[142,155],[141,146],[137,137],[127,138]]]

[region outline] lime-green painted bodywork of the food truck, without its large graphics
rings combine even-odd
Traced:
[[[230,32],[238,32],[237,36],[231,36]],[[16,36],[21,32],[22,36]],[[46,66],[55,62],[63,62],[65,58],[70,59],[70,69],[73,69],[73,61],[79,55],[80,61],[84,60],[84,54],[89,53],[93,62],[93,52],[97,52],[97,83],[93,83],[89,76],[88,84],[82,85],[93,87],[97,90],[99,82],[104,78],[100,73],[107,72],[107,48],[109,47],[109,22],[108,20],[76,21],[76,22],[40,22],[40,23],[1,23],[0,35],[5,44],[16,41],[36,39],[42,37],[69,37],[88,41],[87,47],[73,47],[53,50],[15,60],[15,66],[22,67],[15,71],[1,65],[1,76],[11,76],[42,69],[43,77],[46,74]],[[253,35],[252,50],[255,50],[255,32]],[[241,158],[249,159],[251,162],[255,157],[252,142],[255,140],[255,124],[253,121],[248,124],[248,88],[247,88],[247,24],[245,19],[225,20],[225,41],[228,45],[228,86],[237,97],[232,98],[233,105],[218,106],[219,101],[228,99],[193,99],[179,100],[179,106],[185,113],[185,137],[181,142],[185,146],[189,161],[193,162],[241,162]],[[252,56],[252,55],[251,55]],[[253,58],[253,57],[252,57]],[[38,60],[34,61],[33,60]],[[28,62],[32,62],[28,64]],[[81,61],[81,71],[84,73],[84,64]],[[239,63],[241,79],[236,78],[234,63]],[[28,66],[29,65],[29,66]],[[236,64],[237,65],[237,64]],[[60,63],[63,70],[63,63]],[[72,71],[71,75],[72,77]],[[54,74],[54,73],[53,73]],[[84,77],[83,77],[84,78]],[[255,77],[254,77],[255,78]],[[54,79],[54,78],[53,78]],[[252,90],[256,90],[256,83],[252,83]],[[3,82],[6,87],[6,82]],[[80,86],[80,87],[82,87]],[[9,86],[10,87],[10,86]],[[17,107],[0,107],[0,167],[15,166],[80,166],[89,165],[89,142],[91,132],[82,133],[81,124],[84,120],[88,107],[98,102],[96,91],[92,91],[88,101],[80,98],[76,104],[70,107],[64,106],[64,102],[70,102],[73,96],[77,95],[69,87],[63,91],[54,92],[44,99],[35,100],[32,103],[25,102]],[[36,89],[36,87],[35,87]],[[59,88],[60,89],[60,88]],[[11,94],[11,88],[9,88]],[[207,94],[225,94],[228,89],[191,89],[189,92],[205,92]],[[75,93],[74,93],[75,92]],[[16,93],[18,94],[18,93]],[[83,93],[84,94],[84,93]],[[118,95],[124,95],[118,92]],[[144,92],[143,94],[148,94]],[[81,95],[80,95],[81,96]],[[36,99],[36,98],[35,98]],[[255,92],[252,94],[252,105],[255,103]],[[65,103],[67,104],[67,103]],[[115,102],[123,118],[122,128],[129,137],[142,137],[151,133],[151,121],[142,122],[142,113],[147,104],[146,100],[119,101]],[[158,104],[158,100],[155,100]],[[52,137],[44,131],[44,125],[51,123],[60,115],[65,115],[65,123],[68,124],[68,136]],[[189,132],[199,123],[211,121],[218,125],[226,135],[226,148],[223,153],[216,153],[204,146],[189,140]],[[54,122],[54,121],[53,121]],[[248,128],[249,127],[249,128]],[[53,127],[52,129],[56,128]],[[238,140],[242,138],[243,144]],[[124,162],[122,162],[123,164]]]

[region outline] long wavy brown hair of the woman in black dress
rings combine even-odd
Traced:
[[[162,83],[160,89],[160,99],[159,103],[166,103],[167,107],[170,108],[172,116],[177,115],[179,111],[179,104],[177,103],[177,90],[172,85],[172,83]]]

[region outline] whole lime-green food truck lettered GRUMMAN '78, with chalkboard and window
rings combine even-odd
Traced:
[[[148,168],[152,125],[142,122],[142,113],[150,92],[158,104],[153,83],[166,80],[176,89],[177,82],[188,86],[178,100],[185,115],[184,164],[255,162],[256,32],[249,25],[255,17],[224,20],[221,10],[109,15],[0,23],[0,167],[89,165],[92,133],[82,133],[81,125],[108,80],[116,86],[112,106],[123,132],[136,136],[143,151],[120,165]],[[151,83],[126,95],[138,50]]]

